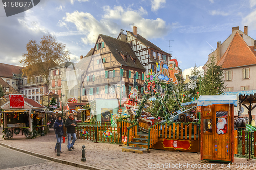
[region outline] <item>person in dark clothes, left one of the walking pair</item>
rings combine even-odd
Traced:
[[[55,130],[55,135],[56,135],[56,138],[57,138],[57,143],[59,143],[59,150],[60,150],[60,153],[62,153],[61,151],[61,143],[62,143],[62,136],[63,136],[63,122],[62,122],[62,118],[61,116],[58,116],[56,121],[54,122],[54,126],[53,126],[53,129]],[[57,152],[57,143],[55,145],[55,149],[54,151]]]

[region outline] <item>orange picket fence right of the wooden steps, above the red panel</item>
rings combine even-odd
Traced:
[[[196,124],[170,124],[165,125],[154,125],[150,131],[150,147],[158,142],[158,138],[165,139],[189,139],[189,140],[199,140],[199,126]]]

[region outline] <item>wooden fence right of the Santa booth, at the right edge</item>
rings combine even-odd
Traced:
[[[256,131],[234,131],[234,154],[249,155],[249,159],[251,159],[251,155],[256,157]]]

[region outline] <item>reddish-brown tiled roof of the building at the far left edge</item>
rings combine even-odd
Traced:
[[[12,78],[13,74],[21,74],[24,67],[0,63],[0,77]]]

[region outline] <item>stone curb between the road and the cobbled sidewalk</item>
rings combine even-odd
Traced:
[[[36,157],[39,157],[39,158],[42,158],[42,159],[47,159],[47,160],[50,160],[50,161],[62,163],[62,164],[65,164],[65,165],[75,166],[75,167],[79,167],[79,168],[83,168],[83,169],[89,169],[89,170],[103,170],[101,168],[96,168],[96,167],[93,167],[93,166],[90,166],[90,165],[83,165],[83,164],[78,164],[78,163],[74,163],[74,162],[68,162],[68,161],[63,160],[63,159],[58,159],[58,158],[54,158],[54,157],[50,157],[50,156],[46,156],[46,155],[41,155],[41,154],[38,154],[38,153],[35,153],[35,152],[22,150],[22,149],[19,149],[19,148],[11,147],[10,145],[3,144],[3,143],[0,143],[0,145],[2,145],[3,147],[6,147],[6,148],[12,149],[12,150],[20,151],[20,152],[23,152],[23,153],[26,153],[26,154],[29,154],[29,155],[33,155],[33,156],[36,156]]]

